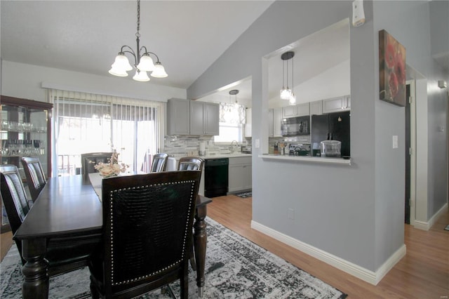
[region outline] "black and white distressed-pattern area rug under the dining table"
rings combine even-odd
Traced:
[[[210,218],[203,298],[346,298],[347,295],[269,253]],[[0,264],[0,298],[22,298],[20,256],[13,246]],[[189,270],[189,298],[198,298],[196,272]],[[91,298],[87,268],[50,280],[48,298]],[[179,283],[171,284],[179,294]],[[170,298],[152,291],[140,298]]]

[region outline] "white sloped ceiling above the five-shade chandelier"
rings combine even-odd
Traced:
[[[274,1],[144,1],[140,46],[188,88]],[[1,0],[1,59],[110,76],[121,46],[136,51],[137,1]],[[133,74],[124,80],[132,80]]]

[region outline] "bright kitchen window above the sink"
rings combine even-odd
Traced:
[[[220,102],[220,135],[214,136],[216,143],[242,142],[246,123],[246,109],[239,104]]]

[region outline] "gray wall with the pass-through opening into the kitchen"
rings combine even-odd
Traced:
[[[264,56],[351,18],[352,1],[275,1],[187,89],[187,98],[199,98],[251,76],[253,222],[375,272],[380,267],[375,261],[375,165],[383,162],[375,160],[377,51],[371,1],[365,1],[364,7],[366,24],[350,28],[351,127],[357,128],[351,130],[351,166],[268,161],[259,157],[261,148],[266,147],[256,148],[254,142],[267,140],[268,94],[262,86],[266,80],[262,69]],[[395,162],[391,167],[397,165]],[[391,182],[398,180],[391,175],[388,178]],[[294,219],[288,218],[290,209],[294,210]],[[391,213],[396,218],[402,213],[403,218],[403,208]],[[403,231],[403,225],[392,227],[384,237],[396,238],[396,249],[403,245],[398,231]],[[391,255],[394,251],[386,252]]]

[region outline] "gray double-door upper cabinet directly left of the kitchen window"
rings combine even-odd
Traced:
[[[220,105],[190,101],[190,135],[219,135]]]

